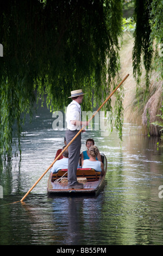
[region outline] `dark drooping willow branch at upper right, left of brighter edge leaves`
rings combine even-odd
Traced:
[[[151,35],[151,24],[150,13],[151,13],[152,0],[135,0],[135,13],[134,20],[136,22],[136,28],[134,32],[134,48],[133,48],[133,74],[136,78],[136,82],[140,84],[140,78],[142,74],[142,61],[146,70],[146,88],[144,94],[144,100],[148,95],[149,88],[149,75],[151,71],[153,49],[151,48],[150,35]]]

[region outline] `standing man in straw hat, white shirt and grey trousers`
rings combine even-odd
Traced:
[[[67,107],[66,112],[66,143],[70,143],[74,136],[77,135],[80,126],[88,125],[89,122],[82,121],[81,119],[81,106],[80,104],[83,101],[83,91],[82,89],[73,90],[71,92],[72,102]],[[81,148],[81,133],[77,136],[76,139],[68,147],[68,187],[80,189],[83,188],[83,184],[77,181],[77,167],[79,162]]]

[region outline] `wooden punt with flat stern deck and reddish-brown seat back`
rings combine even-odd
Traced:
[[[107,170],[107,160],[104,154],[101,154],[104,163],[104,175],[101,172],[96,172],[94,169],[77,169],[77,180],[83,183],[84,188],[73,189],[68,188],[67,169],[60,169],[57,173],[50,174],[47,185],[48,194],[56,193],[95,193],[100,190],[105,179]]]

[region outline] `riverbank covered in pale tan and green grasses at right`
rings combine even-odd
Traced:
[[[142,126],[142,133],[150,136],[160,136],[160,128],[152,125],[155,121],[160,121],[157,114],[160,114],[159,108],[162,104],[162,81],[159,80],[159,74],[154,70],[151,74],[151,83],[149,85],[148,99],[143,101],[145,92],[145,69],[142,68],[141,86],[136,95],[136,81],[133,77],[132,51],[134,38],[131,33],[124,33],[123,44],[120,51],[121,70],[120,76],[123,78],[129,74],[124,83],[124,119],[129,123]]]

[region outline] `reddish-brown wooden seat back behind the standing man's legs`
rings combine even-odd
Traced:
[[[67,169],[60,169],[57,173],[53,173],[52,182],[54,182],[56,179],[61,178],[66,172]],[[91,168],[77,169],[77,178],[86,178],[87,181],[97,181],[99,180],[100,175],[101,172],[97,172],[96,170]],[[64,175],[64,177],[67,177],[67,173]]]

